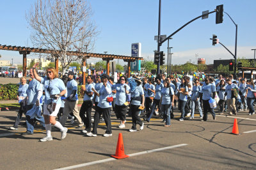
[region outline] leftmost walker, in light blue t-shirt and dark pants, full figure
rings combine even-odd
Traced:
[[[15,120],[15,123],[13,127],[10,127],[11,130],[18,130],[18,126],[20,124],[20,120],[22,118],[22,114],[26,114],[26,97],[27,97],[27,89],[28,89],[28,84],[27,84],[27,79],[26,77],[21,77],[20,78],[20,86],[18,89],[18,95],[17,95],[17,100],[19,101],[20,104],[20,109],[17,115],[17,118]]]

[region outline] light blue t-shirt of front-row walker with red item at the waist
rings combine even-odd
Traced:
[[[107,83],[107,87],[110,90],[110,93],[107,92],[106,87],[105,86],[101,86],[100,88],[100,100],[99,100],[99,104],[98,106],[100,108],[108,108],[111,107],[111,102],[108,102],[107,98],[111,97],[112,93],[111,93],[111,86]]]

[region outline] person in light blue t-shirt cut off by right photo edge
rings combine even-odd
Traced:
[[[253,92],[256,92],[256,86],[252,80],[247,80],[246,84],[247,85],[246,85],[245,98],[246,98],[247,105],[249,107],[249,115],[252,115],[252,114],[255,114],[255,110],[253,107],[253,102],[255,100],[255,97],[253,95]]]

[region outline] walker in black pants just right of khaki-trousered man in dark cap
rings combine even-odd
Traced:
[[[93,89],[92,75],[88,75],[85,88],[82,86],[82,91],[84,91],[83,104],[81,106],[79,115],[85,124],[85,129],[82,131],[84,134],[91,132],[92,129],[92,107],[93,107]],[[84,115],[86,113],[86,116]]]

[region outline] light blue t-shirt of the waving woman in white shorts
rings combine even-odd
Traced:
[[[61,104],[61,99],[58,98],[56,101],[53,98],[50,98],[51,95],[58,95],[61,91],[65,90],[65,84],[61,79],[48,79],[47,77],[41,77],[41,83],[44,84],[45,88],[45,100],[44,104],[50,104],[54,102],[56,104]]]

